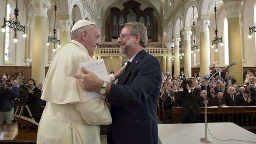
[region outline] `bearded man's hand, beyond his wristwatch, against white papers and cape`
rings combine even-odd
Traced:
[[[98,78],[93,72],[82,67],[84,74],[74,74],[74,77],[80,79],[80,85],[86,91],[98,91],[103,84],[103,80]]]

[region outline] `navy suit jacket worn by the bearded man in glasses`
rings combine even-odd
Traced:
[[[158,59],[141,50],[121,77],[125,80],[111,85],[106,100],[111,103],[113,144],[158,144],[156,109],[161,87]]]

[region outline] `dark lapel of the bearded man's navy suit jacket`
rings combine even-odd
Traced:
[[[137,65],[142,58],[144,58],[144,56],[147,54],[147,52],[145,52],[145,50],[141,50],[140,52],[137,53],[137,55],[134,57],[134,59],[132,60],[130,66],[128,67],[128,69],[126,70],[126,73],[124,75],[124,79],[123,81],[120,81],[119,84],[124,84],[124,82],[126,81],[127,77],[130,75],[130,72],[132,70],[132,68]],[[122,72],[123,74],[123,72]],[[123,77],[123,76],[122,76]],[[121,77],[120,77],[121,78]]]

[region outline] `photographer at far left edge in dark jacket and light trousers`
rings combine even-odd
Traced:
[[[13,86],[13,82],[7,79],[0,89],[0,124],[4,123],[4,120],[7,124],[11,123],[14,109],[10,102],[17,97],[19,97],[19,88]]]

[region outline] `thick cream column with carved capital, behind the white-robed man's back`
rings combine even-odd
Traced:
[[[35,19],[31,77],[35,79],[36,83],[43,83],[45,80],[47,11],[51,4],[50,0],[32,0],[31,3]]]

